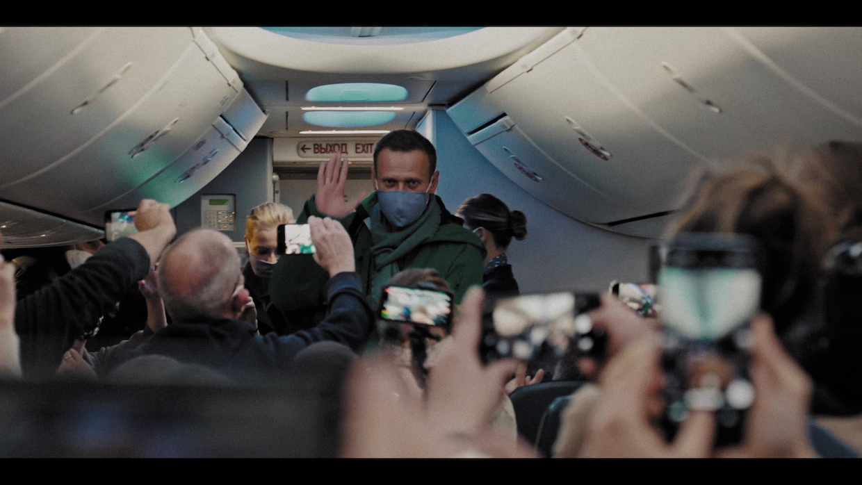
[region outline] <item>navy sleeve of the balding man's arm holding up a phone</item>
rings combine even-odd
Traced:
[[[371,333],[374,314],[362,296],[359,276],[344,272],[329,278],[327,295],[329,316],[309,330],[301,330],[286,337],[278,337],[284,348],[295,355],[307,345],[329,340],[347,345],[359,352]],[[268,335],[267,335],[268,337]],[[289,360],[293,355],[282,356]]]

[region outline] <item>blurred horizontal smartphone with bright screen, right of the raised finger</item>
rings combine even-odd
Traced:
[[[561,291],[498,299],[483,326],[479,355],[484,362],[516,358],[524,362],[559,359],[572,345],[598,350],[605,341],[589,318],[579,318],[598,308],[597,293]]]

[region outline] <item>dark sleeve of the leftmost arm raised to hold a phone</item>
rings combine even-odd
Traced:
[[[134,239],[104,246],[78,268],[16,303],[15,329],[21,339],[24,376],[50,376],[63,352],[90,330],[104,308],[119,302],[147,276],[150,258]]]

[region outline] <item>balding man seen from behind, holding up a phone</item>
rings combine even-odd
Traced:
[[[335,341],[359,351],[373,314],[354,271],[350,237],[330,219],[310,218],[309,226],[315,261],[330,275],[330,313],[318,326],[284,337],[258,335],[252,323],[240,320],[250,297],[233,243],[223,233],[198,229],[168,247],[159,263],[159,293],[173,323],[129,352],[127,360],[164,355],[247,382],[278,377],[297,352],[315,342]]]

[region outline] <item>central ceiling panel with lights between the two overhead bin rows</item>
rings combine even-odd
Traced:
[[[395,107],[390,120],[365,128],[385,133],[415,127],[428,106],[446,105],[467,95],[562,29],[217,27],[205,31],[269,114],[259,134],[295,138],[307,136],[301,133],[307,130],[339,129],[306,121],[303,115],[308,111],[303,107],[312,106]],[[306,99],[316,86],[340,83],[395,84],[408,94],[385,102]]]

